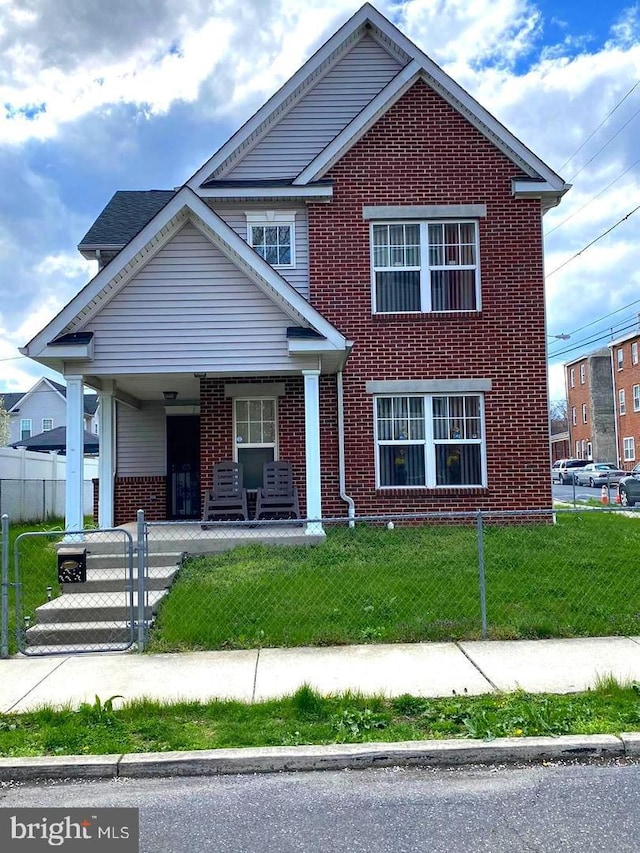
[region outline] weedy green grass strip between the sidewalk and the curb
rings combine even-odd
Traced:
[[[396,699],[344,694],[322,697],[309,687],[254,705],[137,701],[114,710],[96,699],[79,710],[43,708],[0,714],[0,755],[104,755],[218,747],[619,734],[640,723],[638,685],[603,681],[570,696],[491,694]]]

